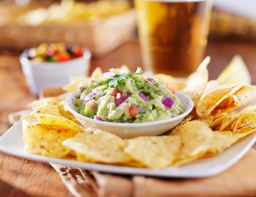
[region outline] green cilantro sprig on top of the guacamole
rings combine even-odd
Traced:
[[[121,74],[116,74],[114,78],[109,78],[107,81],[105,81],[105,84],[108,87],[114,88],[119,84],[123,84],[122,82],[127,78],[127,77],[133,77],[134,75],[140,75],[143,72],[141,67],[138,67],[136,72],[131,73],[131,72],[125,72],[122,75]]]

